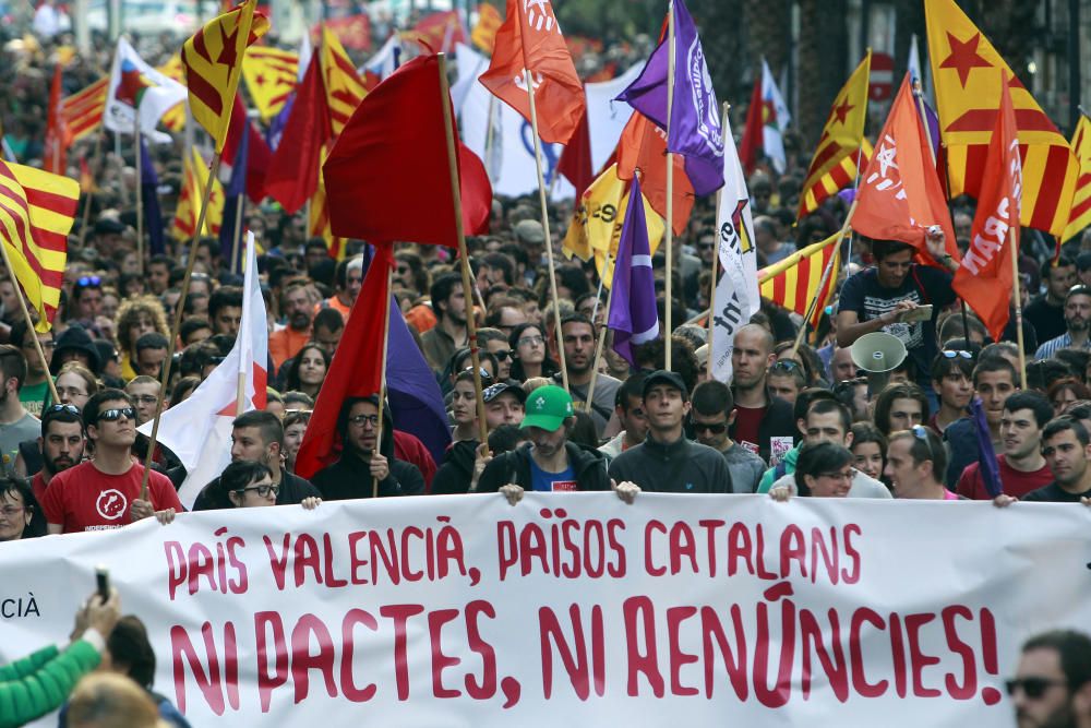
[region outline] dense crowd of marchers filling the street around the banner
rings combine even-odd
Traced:
[[[11,92],[5,121],[14,120],[5,139],[21,162],[33,164],[48,93],[45,57],[25,48],[4,52],[21,69],[14,85],[0,81]],[[48,44],[37,53],[48,55]],[[81,63],[95,64],[75,63],[65,71],[68,82],[83,84],[91,73]],[[81,150],[89,156],[93,143],[70,151],[72,176]],[[28,327],[12,279],[0,279],[0,541],[184,517],[178,488],[185,468],[161,444],[151,450],[136,429],[156,416],[160,401],[169,408],[191,396],[239,333],[243,290],[230,251],[213,238],[192,246],[176,240],[166,253],[142,260],[131,153],[106,159],[93,170],[97,191],[82,198],[87,225],[82,229],[77,222],[72,232],[52,330]],[[180,147],[160,147],[155,162],[169,220],[180,188]],[[784,172],[763,167],[750,179],[760,265],[840,227],[846,208],[838,198],[795,224],[805,164],[790,158]],[[972,204],[959,200],[954,210],[964,249]],[[626,503],[642,492],[669,492],[1091,505],[1091,231],[1059,255],[1036,232],[1024,231],[1022,353],[1012,343],[1015,317],[1003,341],[994,342],[959,306],[950,286],[957,263],[940,254],[942,239],[930,239],[930,255],[856,237],[844,243],[835,300],[806,342],[795,345],[798,314],[763,300],[734,335],[733,377],[722,382],[709,375],[703,314],[717,254],[715,201],[697,200],[686,231],[675,238],[670,321],[668,253],[662,246],[656,253],[666,334],[635,347],[633,363],[612,348],[608,297],[594,264],[561,254],[571,213],[571,202],[551,206],[547,232],[536,198],[495,200],[490,232],[469,241],[471,290],[464,288],[453,251],[399,244],[395,295],[445,397],[451,445],[433,457],[411,431],[399,429],[377,395],[349,397],[337,403],[338,458],[303,478],[296,458],[347,317],[353,306],[383,303],[360,296],[371,260],[364,241],[348,241],[335,260],[324,239],[308,236],[301,214],[285,214],[272,201],[249,212],[245,227],[264,251],[257,266],[268,312],[268,405],[235,420],[225,444],[232,463],[204,485],[193,510],[315,509],[373,492],[499,492],[515,505],[527,491],[612,491]],[[547,246],[559,260],[555,300]],[[196,256],[195,273],[182,300],[189,255]],[[183,315],[175,332],[168,321],[179,306]],[[922,306],[933,307],[931,317],[913,315]],[[861,336],[880,331],[908,354],[883,386],[868,380],[851,351]],[[160,392],[171,337],[171,379]],[[980,420],[973,403],[980,403]],[[984,463],[990,449],[998,478]],[[116,596],[88,600],[81,620],[72,645],[35,656],[35,666],[64,657],[79,667],[55,669],[77,677],[103,656],[113,672],[149,691],[154,655],[149,668],[143,626],[119,619]],[[1091,721],[1088,655],[1087,637],[1074,632],[1027,643],[1009,683],[1026,716],[1021,725]],[[81,706],[117,689],[109,680],[83,685],[72,696],[69,724],[92,725],[79,724]],[[69,690],[71,684],[63,695]],[[161,707],[160,717],[185,725],[170,711]],[[0,716],[0,725],[19,724]]]

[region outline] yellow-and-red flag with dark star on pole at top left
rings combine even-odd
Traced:
[[[269,27],[268,20],[254,12],[256,5],[257,0],[244,0],[206,23],[182,45],[190,110],[212,136],[216,154],[224,151],[247,46]]]

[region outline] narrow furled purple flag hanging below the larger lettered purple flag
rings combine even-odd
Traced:
[[[614,332],[614,351],[634,367],[633,345],[659,336],[659,312],[656,309],[656,276],[651,268],[648,225],[644,217],[640,181],[633,176],[628,190],[628,208],[621,227],[618,259],[614,261],[613,296],[607,327]]]

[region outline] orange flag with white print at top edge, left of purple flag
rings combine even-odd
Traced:
[[[587,102],[550,0],[507,0],[507,17],[496,32],[496,50],[489,70],[479,79],[530,121],[524,69],[530,71],[539,136],[550,144],[567,144]]]

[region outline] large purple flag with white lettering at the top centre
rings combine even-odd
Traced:
[[[697,26],[682,0],[674,10],[674,98],[667,119],[667,73],[670,40],[663,37],[651,51],[639,77],[619,100],[628,104],[667,129],[667,150],[685,157],[685,174],[696,194],[711,194],[723,187],[723,136],[720,105],[705,62]]]

